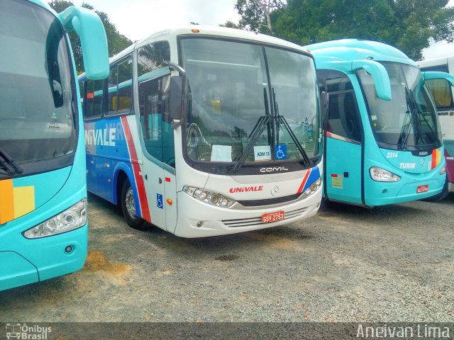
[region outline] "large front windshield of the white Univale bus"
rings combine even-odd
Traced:
[[[311,57],[212,38],[184,38],[180,47],[191,92],[184,149],[192,164],[309,167],[309,159],[319,155]]]

